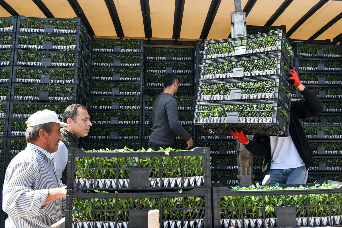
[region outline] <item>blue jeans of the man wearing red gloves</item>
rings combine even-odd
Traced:
[[[262,184],[263,185],[292,185],[306,184],[307,170],[305,165],[293,169],[268,170]]]

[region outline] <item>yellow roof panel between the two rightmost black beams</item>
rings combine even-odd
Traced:
[[[308,18],[291,36],[292,39],[309,39],[342,10],[342,1],[329,1]],[[341,33],[341,28],[340,32]],[[338,34],[339,34],[338,33]]]

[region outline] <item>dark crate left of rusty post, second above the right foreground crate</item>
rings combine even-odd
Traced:
[[[237,172],[238,164],[236,155],[212,156],[210,158],[210,170],[230,170]]]

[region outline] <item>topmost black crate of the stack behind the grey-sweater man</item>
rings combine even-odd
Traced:
[[[146,60],[191,61],[192,58],[192,48],[145,48]]]

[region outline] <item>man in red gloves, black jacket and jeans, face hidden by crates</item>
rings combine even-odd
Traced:
[[[299,81],[298,75],[291,65],[288,80],[294,80],[293,86],[303,95],[305,100],[291,99],[289,136],[254,136],[249,140],[241,131],[230,133],[246,149],[255,155],[265,156],[262,172],[263,185],[306,184],[307,170],[314,162],[310,144],[299,121],[315,116],[323,111],[323,104],[318,96]]]

